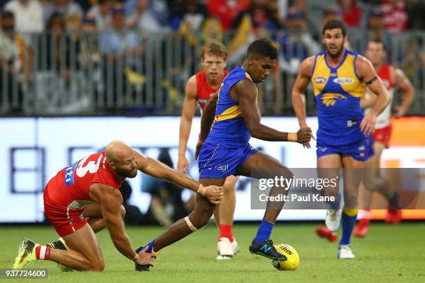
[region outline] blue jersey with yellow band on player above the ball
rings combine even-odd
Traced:
[[[230,90],[240,80],[251,80],[251,76],[236,67],[224,78],[219,89],[215,119],[206,142],[227,146],[241,146],[251,139],[251,133],[242,117],[239,103],[230,96]],[[258,91],[257,91],[258,96]]]

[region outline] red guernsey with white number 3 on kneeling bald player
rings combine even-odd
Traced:
[[[105,151],[94,153],[65,167],[51,178],[44,190],[44,204],[50,207],[81,209],[92,203],[89,188],[100,183],[119,189],[124,180],[117,181]]]

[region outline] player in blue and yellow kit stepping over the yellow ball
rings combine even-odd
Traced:
[[[256,83],[263,83],[276,66],[277,51],[267,39],[256,40],[247,51],[241,67],[233,69],[224,78],[218,95],[208,101],[201,117],[201,135],[197,144],[199,153],[199,182],[203,185],[222,186],[230,175],[258,172],[255,178],[292,178],[292,172],[273,157],[256,150],[249,139],[267,141],[310,141],[310,129],[297,133],[280,132],[260,123],[260,109]],[[215,113],[215,115],[214,115]],[[213,127],[211,124],[215,120]],[[197,157],[195,153],[195,157]],[[269,196],[287,195],[286,187],[272,187]],[[197,195],[194,211],[174,223],[160,237],[147,244],[147,252],[158,252],[205,226],[216,205]],[[249,251],[269,259],[286,260],[269,239],[274,222],[283,207],[282,201],[268,201],[263,221]],[[141,247],[140,250],[146,248]]]

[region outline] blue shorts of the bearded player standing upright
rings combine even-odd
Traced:
[[[365,139],[344,146],[329,146],[317,140],[316,154],[317,158],[330,154],[348,154],[355,160],[366,161],[369,157],[374,155],[373,144],[374,141],[372,136],[365,137]]]

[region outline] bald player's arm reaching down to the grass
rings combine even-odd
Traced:
[[[124,231],[124,223],[121,216],[122,195],[119,190],[106,185],[95,183],[89,189],[90,198],[99,203],[102,207],[103,219],[108,228],[110,238],[115,248],[128,259],[132,259],[138,264],[153,265],[155,255],[147,254],[144,251],[136,253],[130,238]]]

